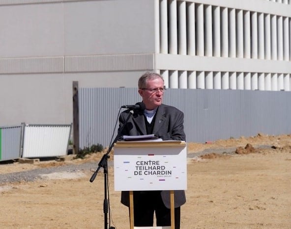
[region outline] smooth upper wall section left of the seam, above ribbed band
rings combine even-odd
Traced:
[[[0,58],[64,53],[63,4],[0,5]]]

